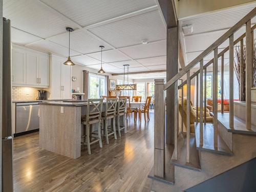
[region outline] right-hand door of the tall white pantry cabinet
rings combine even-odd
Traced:
[[[61,98],[71,98],[71,66],[61,65]]]

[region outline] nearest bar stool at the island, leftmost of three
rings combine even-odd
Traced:
[[[99,142],[99,147],[102,148],[101,141],[101,112],[102,112],[102,103],[103,99],[88,99],[87,113],[86,115],[81,116],[81,124],[86,125],[84,130],[84,139],[83,144],[87,144],[88,154],[91,155],[91,144]],[[98,123],[98,129],[95,132],[91,132],[92,124]],[[84,129],[84,126],[83,126]],[[97,133],[98,132],[98,133]],[[91,137],[97,138],[91,140]]]

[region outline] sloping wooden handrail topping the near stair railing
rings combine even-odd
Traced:
[[[175,81],[180,79],[183,75],[187,73],[188,70],[193,68],[197,63],[208,55],[215,48],[220,46],[230,35],[239,30],[249,19],[254,17],[256,14],[256,7],[251,10],[247,15],[245,15],[236,25],[231,27],[224,35],[218,38],[213,44],[211,44],[207,49],[205,49],[199,56],[197,56],[193,61],[191,61],[184,69],[182,69],[177,75],[170,79],[164,86],[164,90],[168,89]]]

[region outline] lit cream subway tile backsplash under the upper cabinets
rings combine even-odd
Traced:
[[[37,99],[37,90],[41,88],[12,87],[12,100],[35,100]]]

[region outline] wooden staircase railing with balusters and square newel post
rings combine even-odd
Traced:
[[[185,66],[177,75],[170,79],[166,84],[164,84],[163,79],[155,80],[155,157],[154,157],[154,174],[158,177],[164,177],[164,152],[165,152],[165,100],[164,90],[168,89],[172,84],[175,84],[175,89],[177,90],[177,95],[175,96],[175,113],[179,115],[179,100],[178,100],[178,90],[181,90],[181,105],[183,108],[184,103],[184,85],[187,84],[186,97],[187,97],[187,108],[186,108],[186,162],[190,162],[190,82],[191,79],[197,78],[197,94],[196,94],[196,106],[197,106],[197,121],[199,114],[200,123],[200,146],[203,145],[203,124],[206,123],[206,73],[207,67],[211,64],[213,65],[213,123],[214,123],[214,147],[218,147],[218,58],[221,57],[221,79],[224,77],[224,53],[229,51],[229,126],[232,129],[234,124],[234,106],[233,106],[233,65],[234,65],[234,45],[240,42],[241,47],[243,47],[243,39],[246,38],[246,128],[251,128],[251,87],[252,87],[252,71],[253,71],[253,31],[256,25],[251,27],[251,18],[256,15],[256,7],[250,11],[246,16],[244,16],[236,25],[231,27],[225,34],[223,34],[219,39],[217,39],[212,45],[210,45],[206,50],[204,50],[198,57],[191,61],[187,66]],[[241,27],[246,25],[246,32],[241,35],[238,39],[234,40],[234,33],[238,31]],[[218,47],[225,41],[229,39],[229,46],[218,53]],[[204,65],[204,58],[214,52],[214,58],[209,60]],[[191,69],[193,69],[197,63],[200,63],[200,69],[193,75],[190,75]],[[186,75],[186,81],[178,86],[178,80]],[[200,88],[199,88],[200,84]],[[221,112],[224,112],[223,108],[223,80],[221,82]],[[199,90],[199,94],[198,94]],[[199,97],[199,98],[198,98]],[[198,102],[199,99],[199,102]],[[200,106],[200,112],[198,113],[198,103]],[[204,110],[203,110],[204,108]],[[183,122],[184,113],[181,110],[181,132],[184,131]],[[178,115],[177,118],[178,119]],[[177,159],[178,154],[178,135],[179,135],[179,122],[178,120],[174,122],[175,126],[175,148],[173,158]]]

